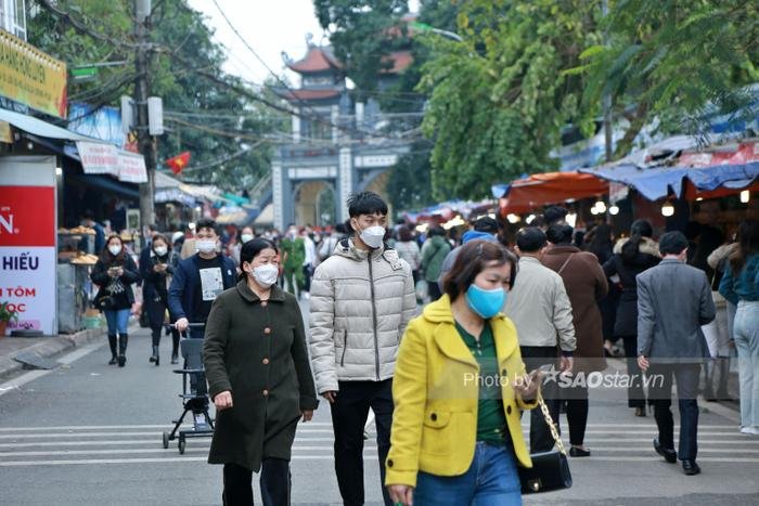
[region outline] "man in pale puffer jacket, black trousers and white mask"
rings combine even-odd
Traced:
[[[381,488],[391,505],[385,459],[393,425],[393,374],[406,326],[416,312],[411,267],[384,243],[387,204],[371,192],[348,200],[353,235],[313,274],[310,351],[317,389],[330,401],[335,471],[345,505],[362,505],[363,427],[377,427]]]

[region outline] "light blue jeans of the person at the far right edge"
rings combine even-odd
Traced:
[[[759,302],[739,301],[733,325],[738,351],[741,426],[759,428]]]

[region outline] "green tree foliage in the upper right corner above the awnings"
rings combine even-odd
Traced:
[[[603,21],[606,40],[591,44],[582,65],[584,112],[600,114],[604,96],[616,122],[626,120],[615,157],[625,156],[646,126],[708,141],[709,119],[756,118],[759,93],[759,4],[743,0],[616,0]]]

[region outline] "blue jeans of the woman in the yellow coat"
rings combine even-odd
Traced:
[[[475,446],[469,469],[461,476],[436,476],[420,471],[414,504],[420,506],[518,506],[519,473],[511,445],[481,441]]]

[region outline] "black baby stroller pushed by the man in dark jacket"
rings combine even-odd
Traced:
[[[173,324],[167,325],[173,327]],[[191,328],[202,328],[204,323],[191,323]],[[182,375],[182,399],[184,411],[179,419],[171,420],[175,424],[171,432],[164,432],[164,449],[169,447],[169,441],[179,439],[179,453],[184,454],[188,438],[205,438],[214,433],[214,420],[208,414],[208,389],[206,387],[206,373],[203,368],[203,339],[188,339],[180,341],[179,348],[184,358],[184,366],[175,369],[176,374]],[[192,429],[180,429],[184,417],[192,413]]]

